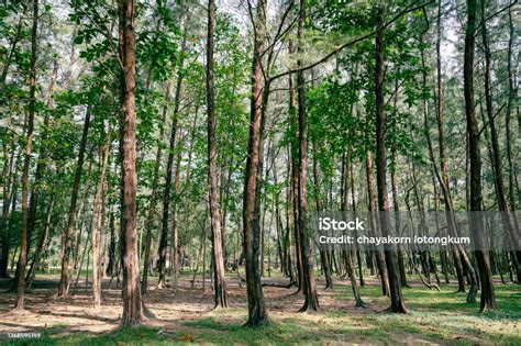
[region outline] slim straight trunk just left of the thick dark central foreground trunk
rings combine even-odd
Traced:
[[[218,200],[217,139],[215,139],[215,91],[213,90],[213,46],[215,32],[215,2],[208,1],[207,41],[207,111],[208,111],[208,188],[210,201],[210,226],[213,243],[213,287],[215,308],[226,308],[226,281],[221,234],[221,215]]]

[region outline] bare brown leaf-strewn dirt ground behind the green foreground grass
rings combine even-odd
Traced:
[[[165,328],[177,328],[180,322],[202,317],[213,311],[213,291],[211,281],[207,278],[206,290],[202,291],[202,279],[198,278],[192,287],[191,276],[181,276],[177,292],[173,288],[157,289],[156,278],[152,278],[148,293],[144,295],[146,306],[153,311],[157,319],[145,321],[147,326],[162,326]],[[78,281],[78,287],[69,298],[56,299],[59,278],[36,279],[33,290],[25,295],[25,312],[8,313],[14,305],[15,294],[9,292],[0,293],[0,333],[27,332],[35,328],[51,328],[63,326],[70,333],[87,332],[100,333],[113,330],[118,326],[122,313],[121,290],[117,289],[115,279],[109,289],[109,279],[102,281],[102,306],[100,310],[92,308],[92,294],[90,282],[86,289],[85,279]],[[281,278],[266,278],[265,282],[287,283]],[[246,286],[240,283],[234,276],[229,278],[228,298],[233,308],[247,308]],[[336,286],[347,282],[336,281]],[[319,284],[321,286],[321,284]],[[9,281],[1,281],[1,289],[9,287]],[[264,287],[264,294],[269,312],[298,313],[302,306],[302,297],[295,294],[296,288]],[[350,310],[353,304],[345,301],[342,304],[334,299],[334,291],[320,291],[320,303],[323,310]],[[366,312],[384,309],[384,306],[370,306]],[[66,325],[66,326],[65,326]]]

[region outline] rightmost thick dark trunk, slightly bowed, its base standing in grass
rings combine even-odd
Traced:
[[[474,48],[476,33],[476,0],[467,0],[467,25],[465,29],[465,54],[463,66],[463,81],[465,93],[465,114],[467,119],[468,152],[470,165],[470,236],[473,237],[476,250],[475,257],[479,270],[481,283],[480,311],[496,309],[496,297],[494,293],[492,274],[490,271],[490,261],[488,250],[486,250],[486,239],[484,234],[481,211],[481,155],[479,144],[479,122],[476,116],[476,103],[474,100]]]

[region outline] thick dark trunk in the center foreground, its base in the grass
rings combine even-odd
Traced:
[[[260,123],[263,118],[263,53],[266,37],[266,3],[257,1],[256,15],[252,19],[255,26],[253,62],[252,62],[252,96],[250,110],[250,135],[246,158],[243,201],[244,254],[246,258],[246,292],[248,301],[247,326],[263,325],[268,320],[264,302],[259,268],[258,227],[259,215],[255,213],[257,175],[260,159]]]

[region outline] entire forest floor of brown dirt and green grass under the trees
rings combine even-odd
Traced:
[[[410,313],[388,314],[383,311],[389,299],[381,297],[376,278],[367,278],[362,288],[366,309],[354,308],[348,280],[336,278],[334,289],[323,290],[319,280],[318,313],[299,313],[303,299],[296,289],[265,287],[270,323],[259,328],[245,328],[246,288],[236,275],[228,281],[232,308],[212,310],[210,280],[206,291],[202,281],[191,287],[191,275],[181,276],[179,289],[155,289],[145,303],[157,317],[143,327],[118,330],[121,315],[121,291],[115,282],[109,289],[103,281],[103,302],[92,309],[90,290],[85,279],[75,295],[56,300],[58,276],[38,276],[26,294],[23,313],[8,312],[13,293],[4,293],[8,281],[0,281],[0,343],[13,345],[113,345],[113,344],[521,344],[521,286],[496,286],[499,310],[479,314],[479,303],[466,303],[465,293],[454,293],[454,284],[442,284],[441,292],[411,281],[404,289]],[[287,282],[280,277],[268,282]],[[151,283],[156,278],[151,279]],[[73,288],[71,288],[73,291]],[[479,300],[479,295],[478,295]],[[34,339],[10,338],[9,333],[38,333]],[[12,334],[11,334],[12,336]]]

